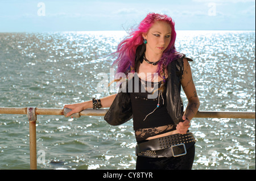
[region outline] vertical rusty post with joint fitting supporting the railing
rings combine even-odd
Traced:
[[[30,122],[30,169],[36,170],[36,107],[27,108],[27,117]]]

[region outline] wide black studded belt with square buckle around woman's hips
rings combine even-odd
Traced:
[[[194,145],[195,142],[193,133],[172,134],[146,140],[136,146],[135,152],[137,156],[141,157],[179,157],[187,154],[187,149]]]

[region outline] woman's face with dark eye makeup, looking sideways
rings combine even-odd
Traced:
[[[142,35],[147,40],[146,50],[155,54],[163,54],[171,41],[171,33],[172,29],[168,23],[155,22],[150,30]]]

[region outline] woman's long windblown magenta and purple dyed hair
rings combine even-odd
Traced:
[[[117,51],[113,53],[115,54],[115,57],[117,57],[113,63],[113,65],[118,65],[117,73],[129,72],[130,66],[132,66],[134,69],[136,49],[139,45],[143,44],[142,33],[147,33],[156,21],[164,21],[170,24],[172,29],[170,44],[166,50],[164,50],[163,56],[158,64],[157,72],[159,73],[160,66],[162,64],[167,66],[172,60],[182,56],[182,54],[176,51],[174,46],[176,40],[176,32],[174,28],[175,23],[172,18],[163,14],[149,13],[147,14],[146,18],[144,18],[139,24],[138,28],[136,28],[133,32],[130,33],[129,36],[126,37],[126,39],[122,40],[121,43],[118,44]]]

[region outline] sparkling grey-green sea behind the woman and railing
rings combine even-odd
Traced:
[[[114,94],[113,58],[125,31],[0,33],[0,107],[63,108]],[[177,31],[189,62],[199,111],[255,112],[255,31]],[[188,101],[181,92],[184,106]],[[255,169],[255,119],[193,118],[193,170]],[[134,170],[133,120],[38,115],[37,168]],[[27,115],[0,114],[0,169],[30,169]]]

